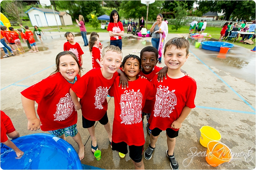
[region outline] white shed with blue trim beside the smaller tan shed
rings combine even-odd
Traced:
[[[61,25],[60,16],[59,16],[60,12],[58,11],[54,11],[54,12],[55,12],[55,17],[58,25]],[[28,14],[30,22],[33,26],[35,25],[38,27],[57,26],[52,9],[32,7],[25,13]]]

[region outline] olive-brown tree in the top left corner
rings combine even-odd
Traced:
[[[1,2],[1,12],[4,9],[3,13],[10,18],[15,19],[17,22],[22,22],[23,12],[23,3],[22,1],[2,1]]]

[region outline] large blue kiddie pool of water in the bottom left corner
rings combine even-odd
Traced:
[[[2,169],[83,169],[76,150],[61,138],[36,133],[12,142],[24,155],[15,159],[13,149],[1,143]]]

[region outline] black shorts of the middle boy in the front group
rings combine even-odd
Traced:
[[[127,144],[125,142],[115,143],[115,142],[112,141],[111,145],[112,145],[112,150],[113,151],[118,151],[118,152],[121,152],[123,154],[128,153]],[[142,145],[142,146],[135,146],[135,145],[129,146],[129,151],[130,151],[129,156],[130,156],[130,158],[134,162],[137,162],[137,163],[141,162],[143,150],[144,150],[144,145]]]

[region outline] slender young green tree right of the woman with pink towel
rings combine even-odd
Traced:
[[[176,2],[175,8],[173,8],[175,19],[171,21],[172,29],[176,31],[186,24],[184,18],[187,16],[186,10],[187,4],[184,2]]]

